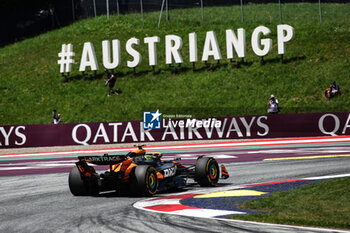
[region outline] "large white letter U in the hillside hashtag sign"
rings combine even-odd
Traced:
[[[115,69],[120,65],[120,41],[112,41],[113,62],[111,62],[111,49],[109,40],[102,41],[103,66],[106,69]]]

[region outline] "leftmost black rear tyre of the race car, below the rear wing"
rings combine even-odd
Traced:
[[[77,167],[73,167],[68,178],[69,189],[74,196],[88,196],[98,194],[97,182],[83,180]]]

